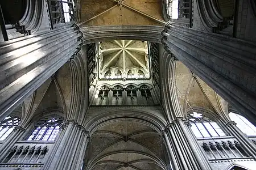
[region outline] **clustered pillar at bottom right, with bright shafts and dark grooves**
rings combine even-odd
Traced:
[[[175,158],[179,160],[179,169],[211,169],[208,160],[204,158],[197,142],[189,135],[190,131],[181,118],[169,124],[166,130],[174,146]],[[177,165],[174,164],[174,167],[176,168]]]

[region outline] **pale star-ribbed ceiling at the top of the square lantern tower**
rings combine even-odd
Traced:
[[[110,78],[114,78],[118,71],[121,71],[122,78],[128,78],[129,73],[137,76],[138,71],[149,78],[147,41],[104,41],[98,44],[98,48],[99,78],[104,78],[107,71],[111,73]]]

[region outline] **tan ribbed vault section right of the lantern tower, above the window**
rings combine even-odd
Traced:
[[[226,101],[180,61],[176,62],[176,88],[183,113],[203,108],[220,116],[228,114]]]

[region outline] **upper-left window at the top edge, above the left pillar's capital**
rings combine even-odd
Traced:
[[[49,0],[52,24],[67,23],[74,20],[73,0]]]

